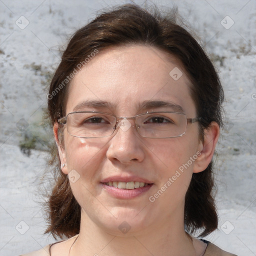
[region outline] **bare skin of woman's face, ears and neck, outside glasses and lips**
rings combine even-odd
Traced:
[[[169,72],[178,67],[178,80]],[[134,116],[146,112],[135,107],[143,100],[169,100],[180,105],[187,118],[196,117],[189,94],[191,86],[182,65],[162,50],[143,45],[108,48],[99,52],[71,81],[66,113],[86,100],[104,100],[112,108],[83,110],[109,112],[116,116]],[[148,111],[171,110],[154,107]],[[134,121],[129,120],[133,125]],[[64,142],[57,137],[61,166],[65,174],[75,169],[80,178],[70,182],[81,205],[81,229],[70,255],[200,255],[205,244],[184,231],[184,198],[193,172],[209,164],[219,135],[212,122],[199,140],[198,123],[188,124],[184,135],[176,138],[144,138],[134,127],[120,128],[105,138],[77,138],[64,128]],[[191,165],[154,202],[153,195],[180,165],[200,152]],[[112,175],[138,175],[153,182],[152,187],[132,199],[110,196],[100,185]],[[123,234],[118,226],[126,221],[131,229]],[[52,255],[68,255],[73,238],[52,246]]]

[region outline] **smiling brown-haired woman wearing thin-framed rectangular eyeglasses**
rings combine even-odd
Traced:
[[[128,4],[76,31],[48,93],[59,172],[46,232],[69,239],[27,255],[233,255],[192,236],[217,228],[222,100],[175,13]]]

